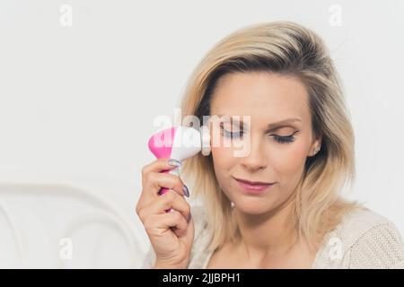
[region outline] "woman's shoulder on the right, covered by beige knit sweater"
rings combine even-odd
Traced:
[[[389,219],[370,209],[347,213],[337,229],[329,233],[326,244],[329,251],[326,261],[330,265],[347,268],[404,267],[404,248],[399,230]],[[335,256],[338,253],[335,248],[340,248],[340,257]],[[334,262],[331,263],[331,259]]]

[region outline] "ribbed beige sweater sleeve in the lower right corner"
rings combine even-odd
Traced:
[[[350,250],[349,268],[404,268],[404,248],[393,223],[366,230]]]

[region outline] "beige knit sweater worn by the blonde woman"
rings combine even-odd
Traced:
[[[208,249],[206,213],[201,206],[191,207],[191,212],[195,238],[188,268],[204,269],[213,254]],[[152,268],[154,260],[154,250],[149,248],[142,268]],[[404,268],[403,241],[387,218],[371,210],[358,210],[347,214],[326,235],[312,268]]]

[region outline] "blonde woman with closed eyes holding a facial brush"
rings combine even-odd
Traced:
[[[181,167],[201,206],[189,206],[179,177],[161,173],[179,162],[142,170],[136,213],[152,244],[145,268],[404,267],[394,224],[339,196],[355,179],[354,131],[336,69],[311,30],[272,22],[233,32],[198,65],[182,115],[225,116],[220,139],[230,144]],[[244,116],[241,127],[235,118]],[[247,137],[249,152],[234,156],[233,141]],[[170,192],[158,196],[161,187]]]

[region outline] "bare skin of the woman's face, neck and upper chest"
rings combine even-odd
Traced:
[[[304,162],[321,146],[321,139],[313,138],[304,84],[292,75],[225,74],[213,94],[211,115],[250,116],[242,135],[250,135],[250,152],[235,157],[232,144],[212,146],[215,176],[234,204],[242,238],[215,250],[207,267],[310,268],[316,252],[304,239],[296,240],[288,218]],[[300,121],[268,132],[268,124],[290,117]],[[235,123],[224,123],[223,129],[240,132]],[[294,142],[278,143],[274,135],[293,135]],[[220,138],[230,141],[222,133]],[[275,184],[264,194],[248,195],[233,177]]]

